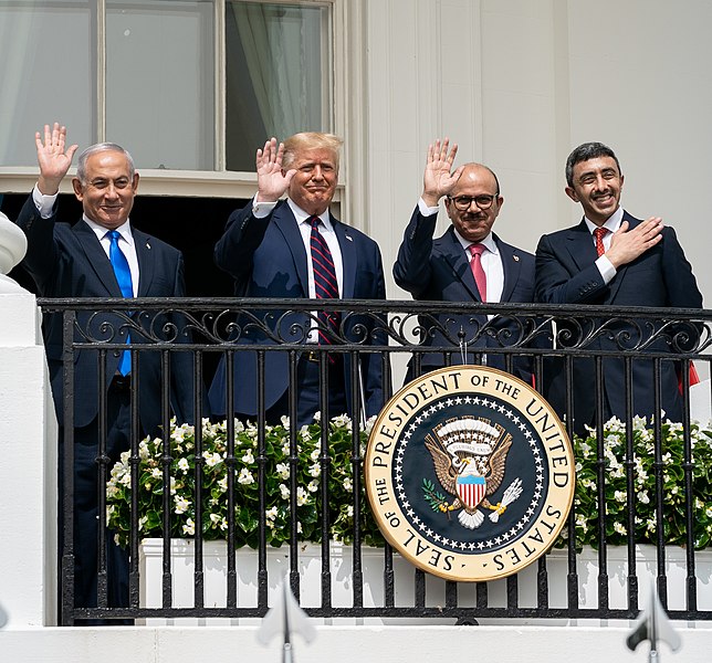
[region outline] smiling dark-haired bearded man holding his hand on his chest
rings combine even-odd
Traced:
[[[701,308],[702,295],[672,228],[662,219],[650,217],[640,221],[620,207],[624,176],[614,151],[600,143],[577,147],[566,161],[566,194],[580,202],[584,219],[578,225],[561,230],[540,240],[536,250],[536,297],[551,304],[595,304],[611,306],[652,306]],[[600,320],[599,320],[600,322]],[[593,322],[596,325],[596,320]],[[607,334],[598,334],[586,343],[586,349],[620,350],[652,335],[651,320],[638,325],[618,323],[608,326]],[[580,330],[565,324],[561,332],[573,334],[577,343]],[[674,351],[676,343],[689,335],[689,347],[694,345],[692,326],[676,328],[681,334],[658,337],[642,351]],[[585,333],[585,332],[584,332]],[[622,345],[619,345],[622,344]],[[679,347],[679,350],[687,349]],[[679,362],[660,362],[660,406],[672,421],[681,421],[682,403],[678,387]],[[647,417],[656,411],[655,371],[650,358],[632,359],[632,412]],[[626,390],[622,359],[604,359],[603,421],[610,417],[625,419]],[[545,394],[557,412],[565,417],[567,385],[563,360],[554,359],[546,370]],[[593,358],[574,359],[574,430],[585,432],[585,425],[595,425],[596,373]]]

